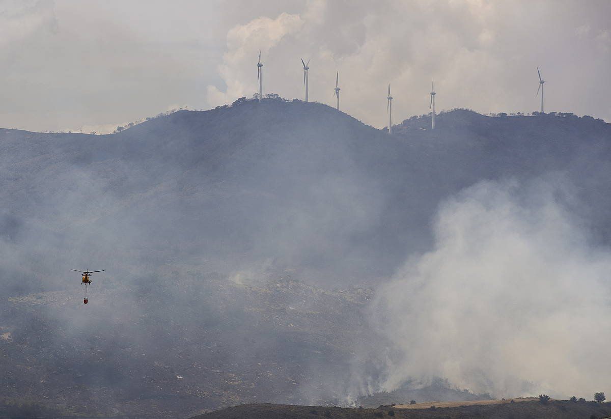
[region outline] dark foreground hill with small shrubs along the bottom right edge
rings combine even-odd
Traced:
[[[438,407],[435,409],[401,409],[380,406],[378,409],[346,409],[341,407],[286,406],[246,404],[196,416],[197,419],[311,419],[316,417],[342,419],[409,418],[409,419],[575,419],[605,418],[611,414],[608,404],[596,402],[571,403],[538,401],[483,406]]]

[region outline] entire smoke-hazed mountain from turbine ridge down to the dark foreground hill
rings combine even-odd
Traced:
[[[0,130],[3,396],[169,415],[384,390],[388,337],[368,301],[430,249],[440,202],[480,181],[561,183],[557,199],[609,244],[609,124],[437,121],[388,136],[265,100],[108,136]],[[70,269],[106,269],[88,305]]]

